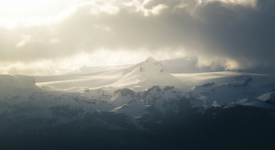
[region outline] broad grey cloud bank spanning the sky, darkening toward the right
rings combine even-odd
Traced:
[[[169,58],[192,55],[198,57],[197,66],[213,69],[274,69],[273,0],[110,4],[82,3],[73,13],[49,23],[19,24],[13,29],[2,25],[1,61],[58,59],[105,49],[112,53],[171,52]],[[176,56],[173,51],[184,55]]]

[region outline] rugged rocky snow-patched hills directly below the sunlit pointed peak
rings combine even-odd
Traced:
[[[178,112],[177,95],[181,93],[182,91],[174,88],[174,86],[163,86],[161,88],[154,85],[137,93],[136,99],[132,99],[128,103],[115,108],[113,111],[127,113],[132,117],[141,117],[144,114],[175,114]]]

